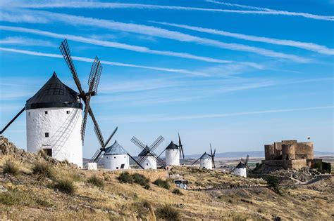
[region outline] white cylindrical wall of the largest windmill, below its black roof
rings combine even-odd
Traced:
[[[67,159],[82,168],[81,109],[27,109],[26,121],[28,152],[37,153],[39,149],[51,149],[55,159]],[[49,137],[46,137],[46,133]]]

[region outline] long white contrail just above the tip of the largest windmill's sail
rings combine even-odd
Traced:
[[[220,60],[216,58],[192,55],[190,53],[179,53],[179,52],[173,52],[173,51],[158,51],[158,50],[149,49],[144,46],[133,46],[133,45],[129,45],[126,43],[118,43],[115,41],[103,41],[99,39],[86,38],[83,36],[77,36],[77,35],[72,35],[72,34],[58,34],[54,32],[42,31],[39,29],[29,29],[29,28],[24,28],[24,27],[13,27],[13,26],[0,26],[0,29],[11,31],[11,32],[38,34],[40,36],[48,36],[48,37],[56,38],[56,39],[69,39],[71,41],[89,43],[89,44],[93,44],[97,46],[104,46],[104,47],[110,47],[110,48],[122,48],[124,50],[137,51],[140,53],[150,53],[150,54],[156,54],[156,55],[173,56],[173,57],[178,57],[178,58],[187,58],[187,59],[192,59],[192,60],[202,60],[204,62],[216,62],[216,63],[233,62],[232,60]]]

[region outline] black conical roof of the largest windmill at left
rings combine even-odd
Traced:
[[[66,86],[58,79],[56,72],[47,83],[25,104],[25,109],[45,107],[73,107],[82,109],[78,93]]]

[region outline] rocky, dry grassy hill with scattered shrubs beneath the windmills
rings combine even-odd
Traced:
[[[264,180],[176,167],[169,174],[171,180],[189,180],[190,190],[175,190],[173,182],[166,182],[165,170],[128,172],[78,170],[66,161],[18,150],[6,138],[0,138],[0,219],[333,220],[334,217],[333,178],[310,186],[280,187],[280,192],[276,192],[268,187],[249,188],[266,185]],[[159,182],[154,182],[159,178]],[[231,188],[191,190],[221,185]]]

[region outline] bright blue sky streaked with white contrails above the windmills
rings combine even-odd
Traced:
[[[1,1],[0,126],[55,71],[82,84],[105,139],[183,140],[185,154],[262,150],[279,140],[333,151],[333,1]],[[87,85],[85,85],[87,89]],[[75,88],[76,89],[76,88]],[[25,115],[4,135],[25,149]],[[84,156],[99,148],[88,121]]]

